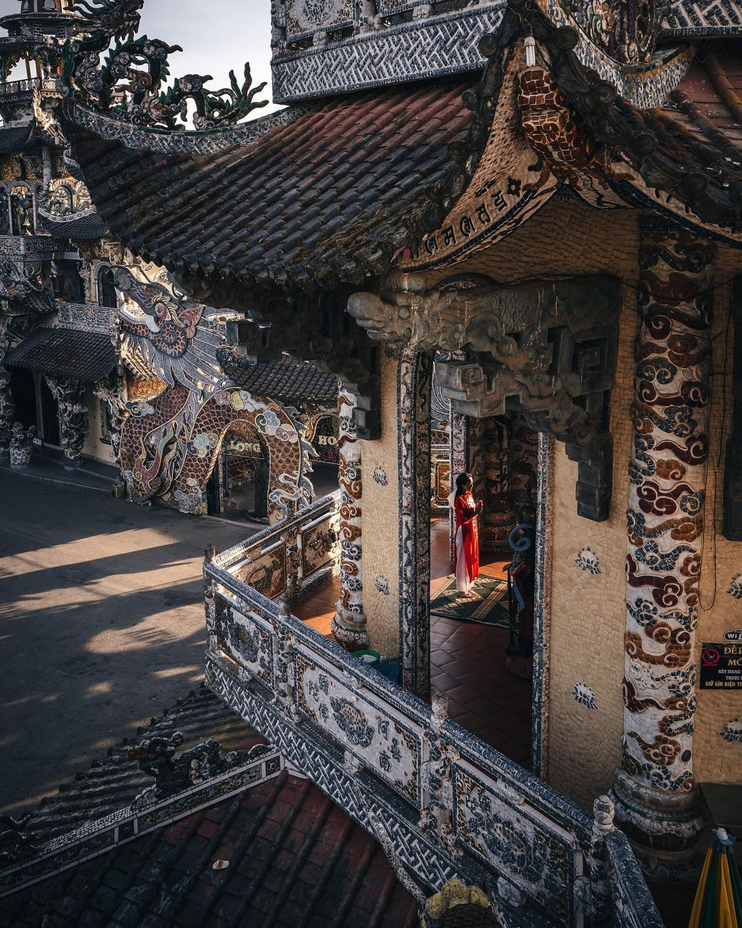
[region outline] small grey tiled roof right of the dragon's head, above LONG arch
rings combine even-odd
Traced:
[[[224,373],[255,396],[270,396],[281,403],[319,403],[338,400],[338,378],[312,364],[263,362],[255,364],[229,349],[217,353]]]

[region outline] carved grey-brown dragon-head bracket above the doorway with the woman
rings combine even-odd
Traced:
[[[578,512],[607,519],[619,282],[592,275],[425,290],[424,277],[407,276],[403,286],[354,293],[348,311],[374,341],[465,352],[467,360],[439,366],[454,413],[482,419],[522,412],[532,429],[553,432],[580,465]]]

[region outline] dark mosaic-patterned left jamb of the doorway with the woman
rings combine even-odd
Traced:
[[[400,532],[400,682],[430,691],[431,352],[400,350],[397,367]]]

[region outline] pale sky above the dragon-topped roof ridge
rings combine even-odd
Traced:
[[[0,15],[19,10],[19,0],[0,0]],[[139,34],[181,45],[170,57],[171,74],[212,74],[215,89],[228,86],[230,69],[241,84],[249,61],[253,84],[268,82],[259,98],[271,99],[270,0],[145,0]]]

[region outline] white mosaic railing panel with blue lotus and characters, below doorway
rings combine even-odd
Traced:
[[[395,790],[421,805],[422,729],[354,690],[333,668],[296,658],[296,702],[303,715]]]

